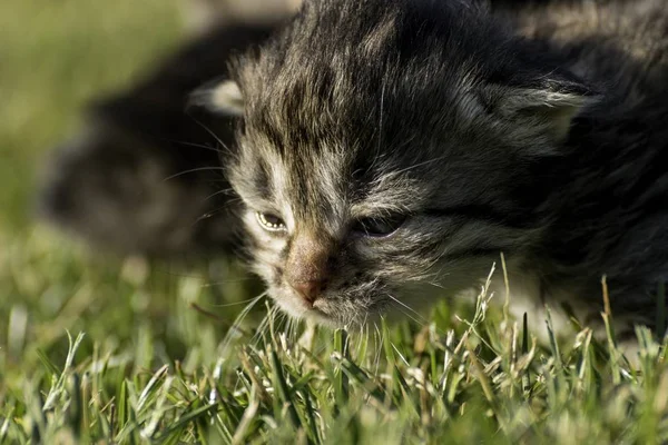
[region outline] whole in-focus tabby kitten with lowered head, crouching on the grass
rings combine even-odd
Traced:
[[[607,275],[619,334],[652,326],[668,276],[660,3],[306,2],[197,93],[240,117],[225,162],[269,295],[355,326],[477,289],[503,253],[519,314],[566,304],[596,323]]]

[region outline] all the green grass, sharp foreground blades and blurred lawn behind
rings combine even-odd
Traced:
[[[481,289],[310,339],[264,299],[235,324],[257,291],[232,260],[104,258],[33,224],[45,149],[178,37],[164,0],[0,3],[1,443],[668,442],[645,329],[633,366],[587,329],[538,345]]]

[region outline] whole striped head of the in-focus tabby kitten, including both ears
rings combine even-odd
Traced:
[[[541,53],[462,1],[323,0],[240,59],[210,102],[269,295],[361,324],[527,255],[589,95]]]

